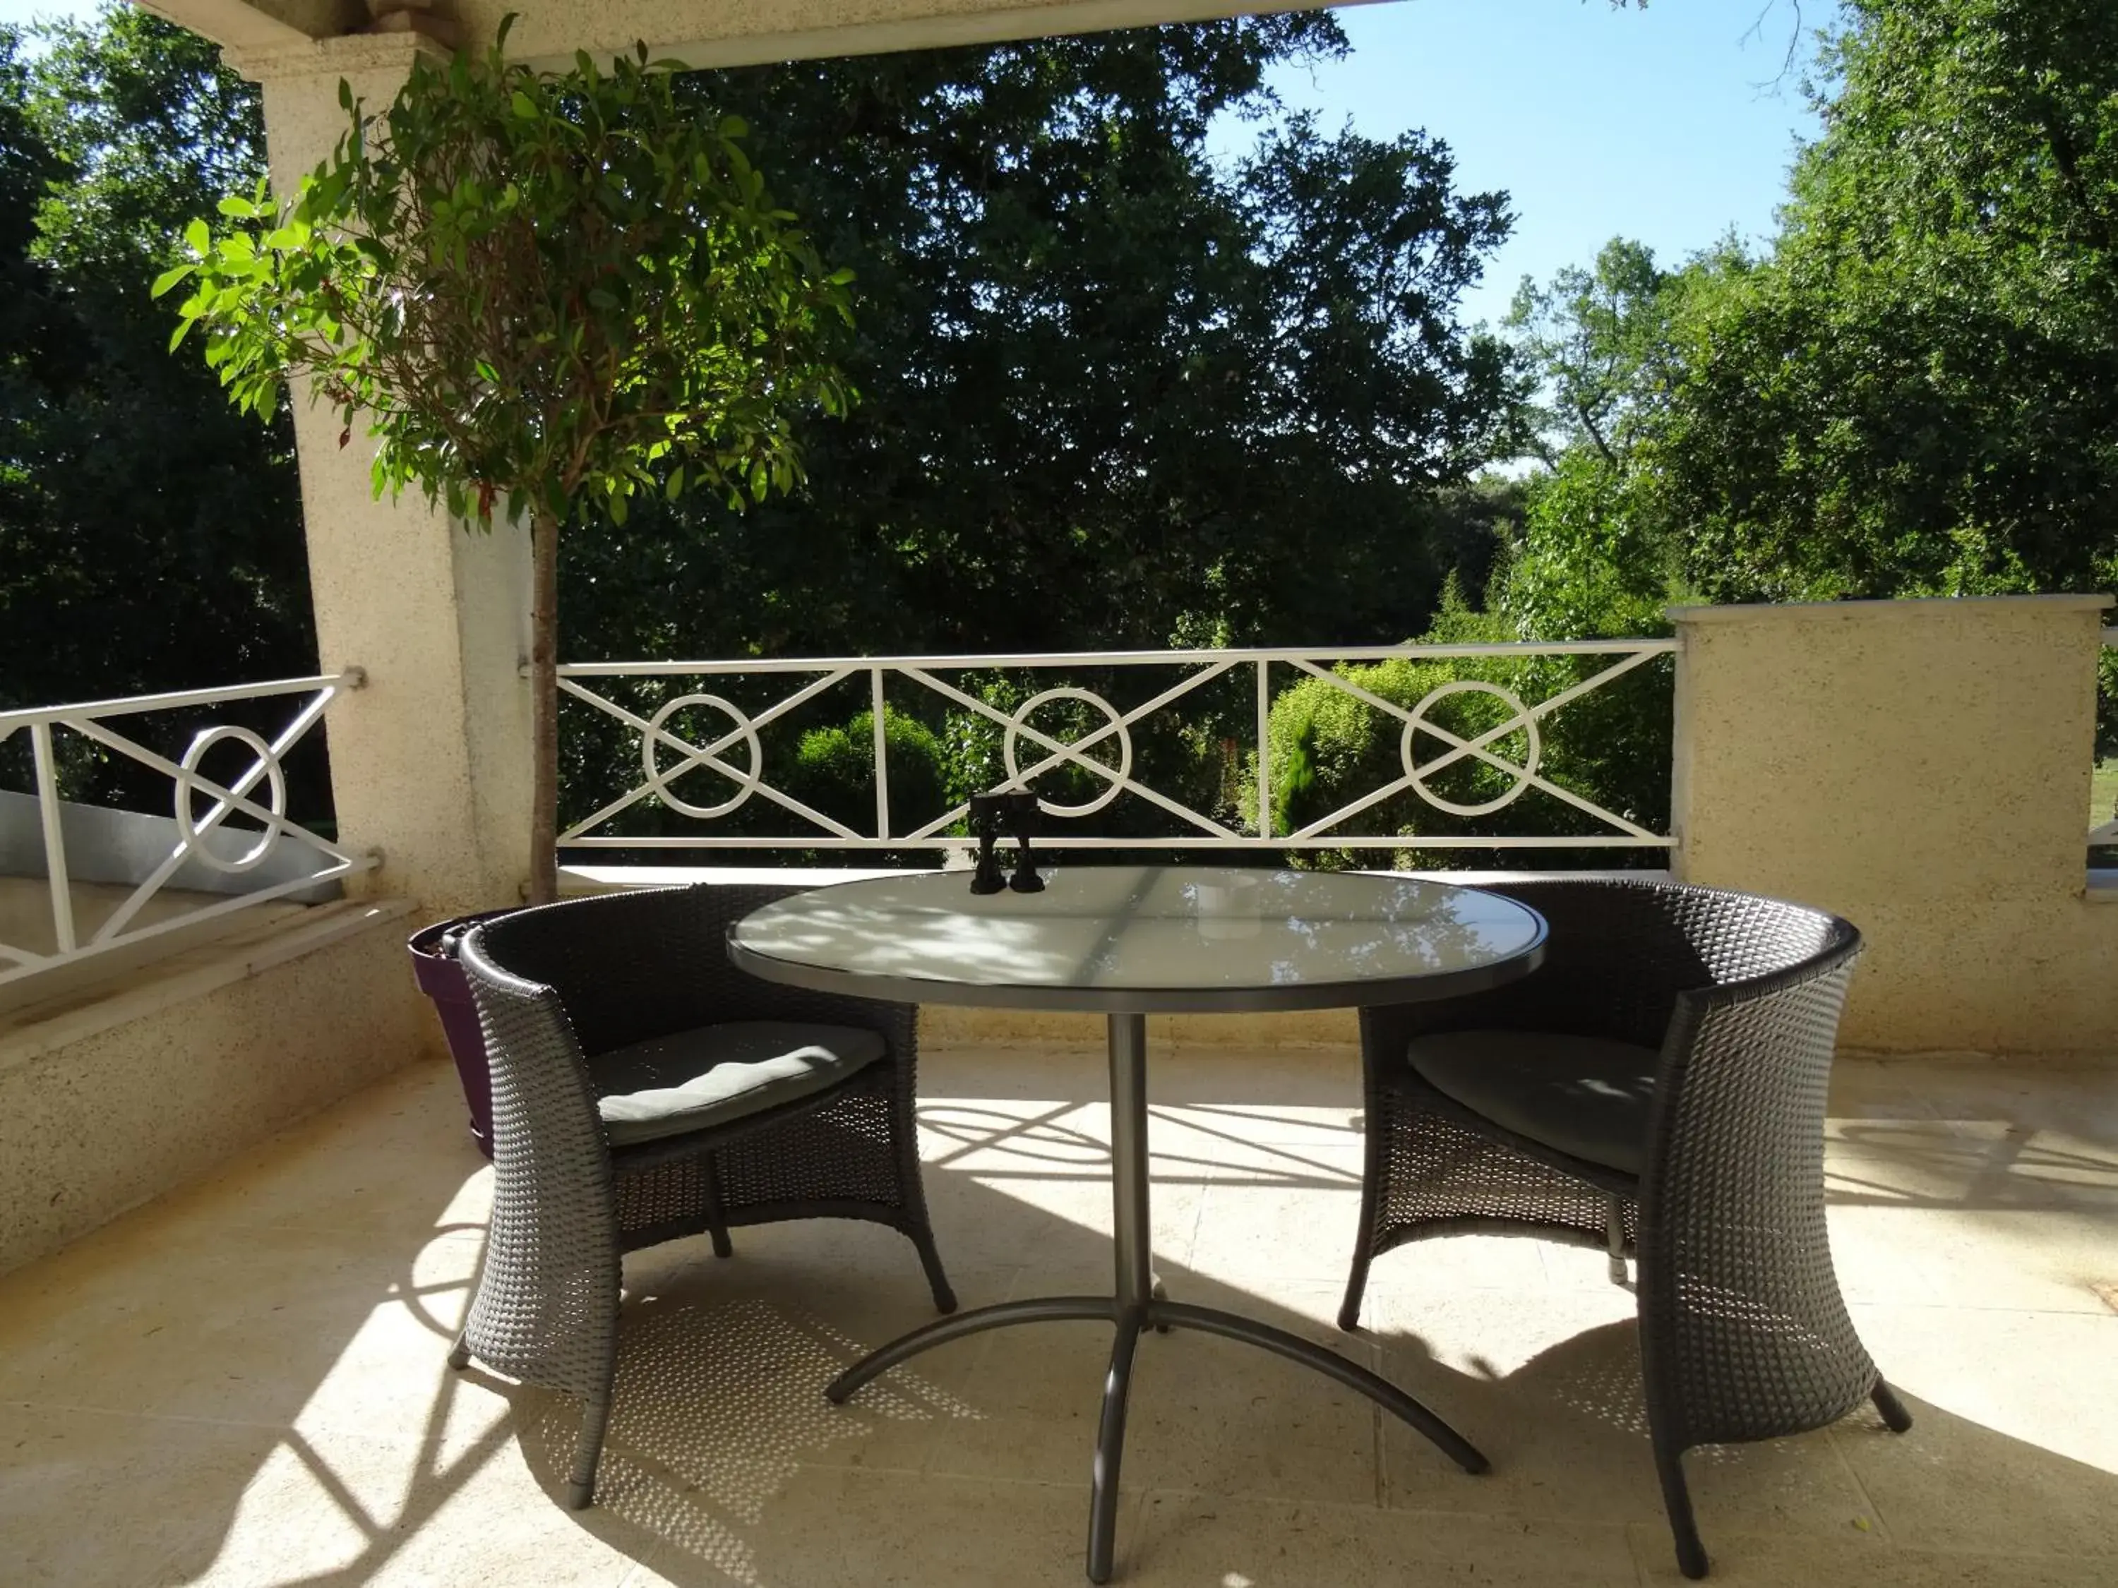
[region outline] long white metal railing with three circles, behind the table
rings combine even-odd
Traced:
[[[572,824],[559,834],[559,843],[582,849],[951,849],[964,845],[962,834],[947,828],[964,819],[966,807],[953,805],[940,815],[917,824],[892,826],[890,811],[890,769],[885,756],[885,694],[890,686],[913,686],[915,692],[940,697],[949,709],[972,714],[972,718],[995,724],[1002,730],[1002,760],[1008,777],[1002,788],[1029,788],[1029,783],[1057,766],[1078,766],[1101,783],[1091,800],[1078,805],[1055,805],[1042,800],[1042,809],[1061,817],[1084,817],[1108,807],[1118,794],[1131,794],[1159,807],[1171,817],[1171,832],[1163,836],[1097,836],[1078,834],[1067,828],[1048,830],[1048,841],[1065,849],[1233,849],[1269,845],[1275,849],[1586,849],[1586,847],[1652,847],[1667,849],[1671,838],[1631,822],[1629,817],[1597,805],[1580,790],[1555,783],[1540,771],[1542,741],[1538,724],[1550,714],[1578,701],[1591,690],[1603,688],[1612,680],[1631,673],[1641,663],[1675,652],[1675,639],[1582,639],[1565,644],[1506,644],[1506,646],[1341,646],[1307,650],[1129,650],[1129,652],[1061,652],[1061,654],[991,654],[991,656],[813,656],[813,658],[741,658],[741,661],[652,661],[652,663],[570,663],[559,667],[561,699],[572,697],[597,711],[616,718],[640,741],[642,781],[625,794],[608,800],[602,809]],[[1379,661],[1531,661],[1542,656],[1608,656],[1610,663],[1588,678],[1580,678],[1565,688],[1557,688],[1538,701],[1525,701],[1504,684],[1483,680],[1455,680],[1432,688],[1415,705],[1400,705],[1362,688],[1332,665],[1379,663]],[[979,694],[949,682],[945,673],[962,671],[1027,671],[1044,675],[1080,675],[1103,669],[1178,669],[1182,678],[1169,688],[1148,694],[1129,709],[1116,707],[1103,694],[1057,682],[1051,688],[1029,694],[1012,711],[1006,711]],[[1273,707],[1273,669],[1281,669],[1288,680],[1320,678],[1366,703],[1370,709],[1398,718],[1402,775],[1364,790],[1339,809],[1303,822],[1290,832],[1275,830],[1273,815],[1273,769],[1269,754],[1269,720]],[[1133,775],[1133,728],[1144,720],[1178,707],[1199,686],[1220,678],[1241,678],[1254,673],[1256,711],[1252,726],[1254,792],[1245,800],[1243,826],[1228,826],[1209,813],[1171,798],[1167,792],[1150,788]],[[790,688],[771,705],[746,711],[726,694],[714,692],[712,680],[786,680]],[[648,684],[650,694],[659,694],[659,705],[633,709],[621,699],[614,684],[623,680],[657,680]],[[669,692],[676,680],[703,680],[699,690]],[[873,777],[875,777],[875,819],[873,830],[860,830],[796,798],[786,788],[777,788],[767,775],[765,745],[758,730],[788,718],[809,705],[826,690],[866,682],[866,707],[873,716]],[[591,686],[593,682],[593,686]],[[858,684],[854,684],[858,688]],[[1449,694],[1476,690],[1497,697],[1504,720],[1500,726],[1457,735],[1434,720],[1432,707]],[[1101,711],[1103,726],[1078,739],[1061,741],[1031,724],[1031,716],[1053,701],[1074,701]],[[669,718],[686,709],[707,709],[720,714],[729,728],[705,743],[693,743],[669,726]],[[1248,707],[1245,707],[1248,716]],[[1510,735],[1521,735],[1523,750],[1510,760],[1504,750]],[[705,737],[705,735],[699,735]],[[1034,764],[1023,764],[1021,743],[1027,741],[1042,754]],[[1089,752],[1110,745],[1106,758]],[[669,760],[663,760],[667,752]],[[1425,758],[1423,758],[1425,756]],[[1493,766],[1510,779],[1510,788],[1497,798],[1478,805],[1464,805],[1444,798],[1432,788],[1436,773],[1472,758]],[[739,764],[743,762],[743,764]],[[714,792],[720,798],[695,802],[671,790],[678,777],[693,771],[707,771],[718,777]],[[1459,817],[1489,815],[1512,805],[1529,790],[1542,790],[1574,811],[1591,817],[1597,826],[1586,834],[1356,834],[1345,824],[1362,811],[1406,790],[1425,805]],[[714,832],[712,826],[731,817],[752,796],[777,805],[788,817],[790,832]],[[623,834],[612,830],[612,822],[642,800],[657,800],[663,809],[695,824],[682,834]]]

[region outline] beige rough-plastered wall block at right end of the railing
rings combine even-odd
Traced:
[[[2118,1052],[2118,906],[2084,891],[2107,606],[1671,612],[1675,874],[1853,921],[1849,1048]]]

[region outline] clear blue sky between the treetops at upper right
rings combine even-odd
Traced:
[[[93,8],[0,0],[0,21]],[[1811,4],[1811,25],[1824,13]],[[1497,322],[1523,275],[1588,263],[1614,235],[1671,263],[1730,227],[1769,235],[1796,138],[1815,133],[1796,78],[1775,87],[1792,0],[1396,0],[1339,19],[1351,57],[1279,72],[1281,97],[1328,131],[1423,127],[1455,150],[1459,188],[1514,199],[1468,320]],[[1243,138],[1228,125],[1218,146]]]

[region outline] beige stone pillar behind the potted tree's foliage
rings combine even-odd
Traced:
[[[341,78],[381,110],[415,34],[229,51],[265,89],[271,176],[290,195],[345,133]],[[294,394],[309,589],[324,671],[366,669],[333,705],[330,786],[339,836],[375,847],[369,891],[426,915],[517,904],[530,874],[530,534],[466,531],[417,491],[375,500],[373,443],[339,445],[328,407]]]

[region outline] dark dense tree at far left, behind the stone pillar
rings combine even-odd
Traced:
[[[256,89],[144,11],[0,36],[0,701],[316,667],[292,426],[172,356],[146,284],[256,180]]]

